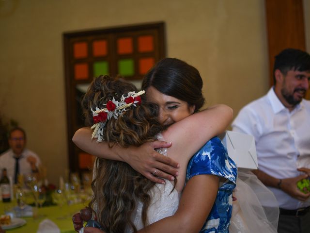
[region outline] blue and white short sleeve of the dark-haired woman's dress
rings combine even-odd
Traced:
[[[209,140],[188,163],[186,180],[196,175],[216,175],[236,182],[237,167],[218,137]]]

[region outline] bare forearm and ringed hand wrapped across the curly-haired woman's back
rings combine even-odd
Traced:
[[[144,143],[138,148],[121,148],[118,145],[109,148],[105,141],[97,143],[96,139],[92,140],[92,133],[89,127],[81,128],[74,134],[72,140],[78,148],[94,156],[129,164],[155,183],[163,183],[164,181],[160,178],[173,180],[173,176],[177,176],[179,164],[155,151],[156,148],[169,148],[171,143],[154,141]]]

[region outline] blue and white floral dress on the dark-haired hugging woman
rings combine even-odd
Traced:
[[[226,148],[218,137],[209,140],[191,158],[187,166],[186,182],[193,176],[206,174],[223,177],[226,182],[220,183],[215,203],[200,232],[228,233],[237,166],[228,156]]]

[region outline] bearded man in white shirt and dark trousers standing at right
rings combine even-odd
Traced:
[[[246,105],[233,131],[255,137],[258,170],[253,171],[276,196],[279,233],[310,232],[310,193],[296,183],[310,176],[310,55],[295,49],[275,57],[269,92]]]

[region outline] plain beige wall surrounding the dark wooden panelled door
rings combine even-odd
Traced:
[[[0,1],[0,114],[27,130],[53,183],[68,166],[62,33],[155,21],[167,55],[201,71],[208,104],[237,114],[268,90],[263,0]]]

